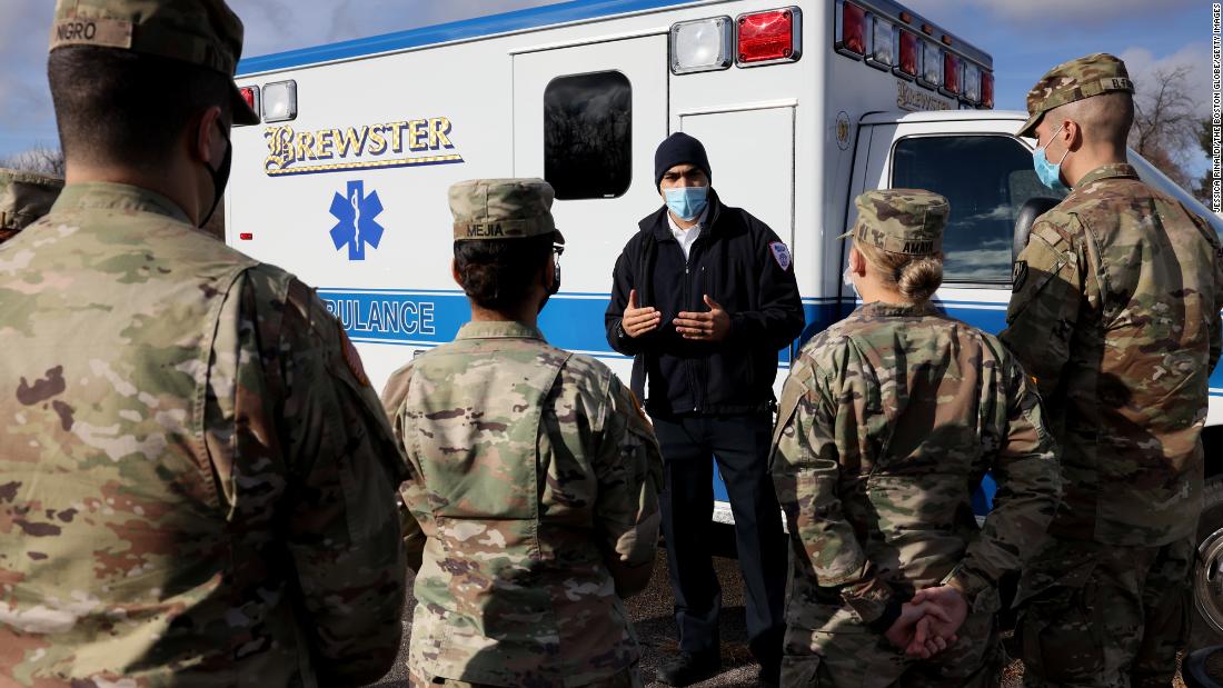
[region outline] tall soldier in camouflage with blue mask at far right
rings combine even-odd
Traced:
[[[1002,334],[1048,402],[1066,483],[1020,582],[1029,686],[1168,686],[1186,640],[1223,266],[1210,225],[1126,164],[1132,90],[1117,57],[1071,60],[1019,132],[1043,181],[1073,187],[1032,227]]]

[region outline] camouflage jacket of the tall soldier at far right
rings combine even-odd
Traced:
[[[1054,534],[1153,546],[1194,532],[1221,308],[1214,231],[1129,165],[1088,174],[1036,221],[1002,339],[1062,448]]]

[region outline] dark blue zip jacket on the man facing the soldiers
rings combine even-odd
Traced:
[[[772,407],[778,351],[804,326],[794,266],[785,265],[789,252],[783,248],[768,225],[722,205],[712,191],[709,214],[687,262],[671,236],[665,205],[641,221],[641,231],[616,260],[604,324],[612,348],[635,357],[632,389],[646,398],[649,413],[752,413]],[[631,288],[637,290],[638,307],[663,313],[659,328],[637,339],[620,326]],[[708,310],[703,295],[730,314],[730,335],[722,342],[689,341],[675,332],[679,312]]]

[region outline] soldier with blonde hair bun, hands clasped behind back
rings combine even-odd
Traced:
[[[1053,517],[1053,440],[1015,357],[928,301],[947,200],[856,205],[848,274],[865,306],[804,347],[773,435],[793,545],[781,684],[997,686],[997,582]],[[987,470],[999,491],[978,529]],[[931,604],[951,618],[917,622]],[[927,657],[915,623],[949,643]]]

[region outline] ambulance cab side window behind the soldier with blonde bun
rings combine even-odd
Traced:
[[[1031,152],[1007,136],[903,138],[893,153],[892,188],[947,197],[943,280],[980,285],[1010,282],[1015,216],[1024,203],[1062,196],[1041,185]]]

